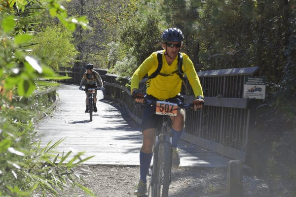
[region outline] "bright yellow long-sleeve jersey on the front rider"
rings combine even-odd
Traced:
[[[147,81],[147,94],[153,97],[164,100],[173,98],[181,92],[182,79],[180,78],[178,72],[178,56],[175,58],[173,63],[169,66],[166,62],[165,55],[162,54],[162,68],[160,73],[169,75],[162,76],[158,74],[155,78],[149,79]],[[202,96],[202,87],[194,69],[192,61],[189,57],[182,53],[183,55],[183,66],[182,69],[186,74],[188,81],[193,89],[195,97]],[[158,67],[157,53],[153,52],[134,72],[131,78],[131,91],[133,89],[139,89],[140,80],[148,73],[150,76]]]

